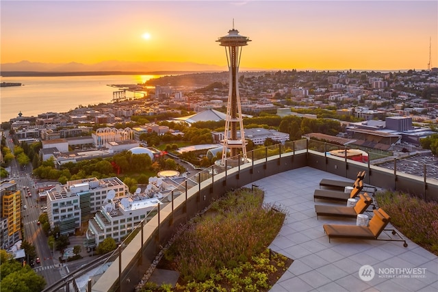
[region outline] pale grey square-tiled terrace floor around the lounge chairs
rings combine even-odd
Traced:
[[[251,184],[265,191],[265,202],[279,204],[288,212],[270,248],[294,259],[294,263],[270,291],[438,291],[438,257],[406,237],[407,248],[402,241],[331,239],[329,243],[323,224],[355,225],[356,220],[324,216],[317,219],[315,204],[330,204],[323,200],[313,202],[313,191],[320,188],[322,178],[348,181],[305,167]],[[389,224],[387,228],[393,227]],[[368,274],[363,277],[366,280],[361,280],[359,269],[364,265],[374,269],[373,278]],[[417,274],[409,268],[417,268]],[[365,274],[370,271],[370,267],[365,268]]]

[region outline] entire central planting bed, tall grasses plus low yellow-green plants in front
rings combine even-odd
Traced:
[[[157,268],[175,269],[175,288],[148,282],[146,291],[268,291],[292,259],[268,245],[286,212],[263,204],[260,189],[239,189],[211,204],[183,227]]]

